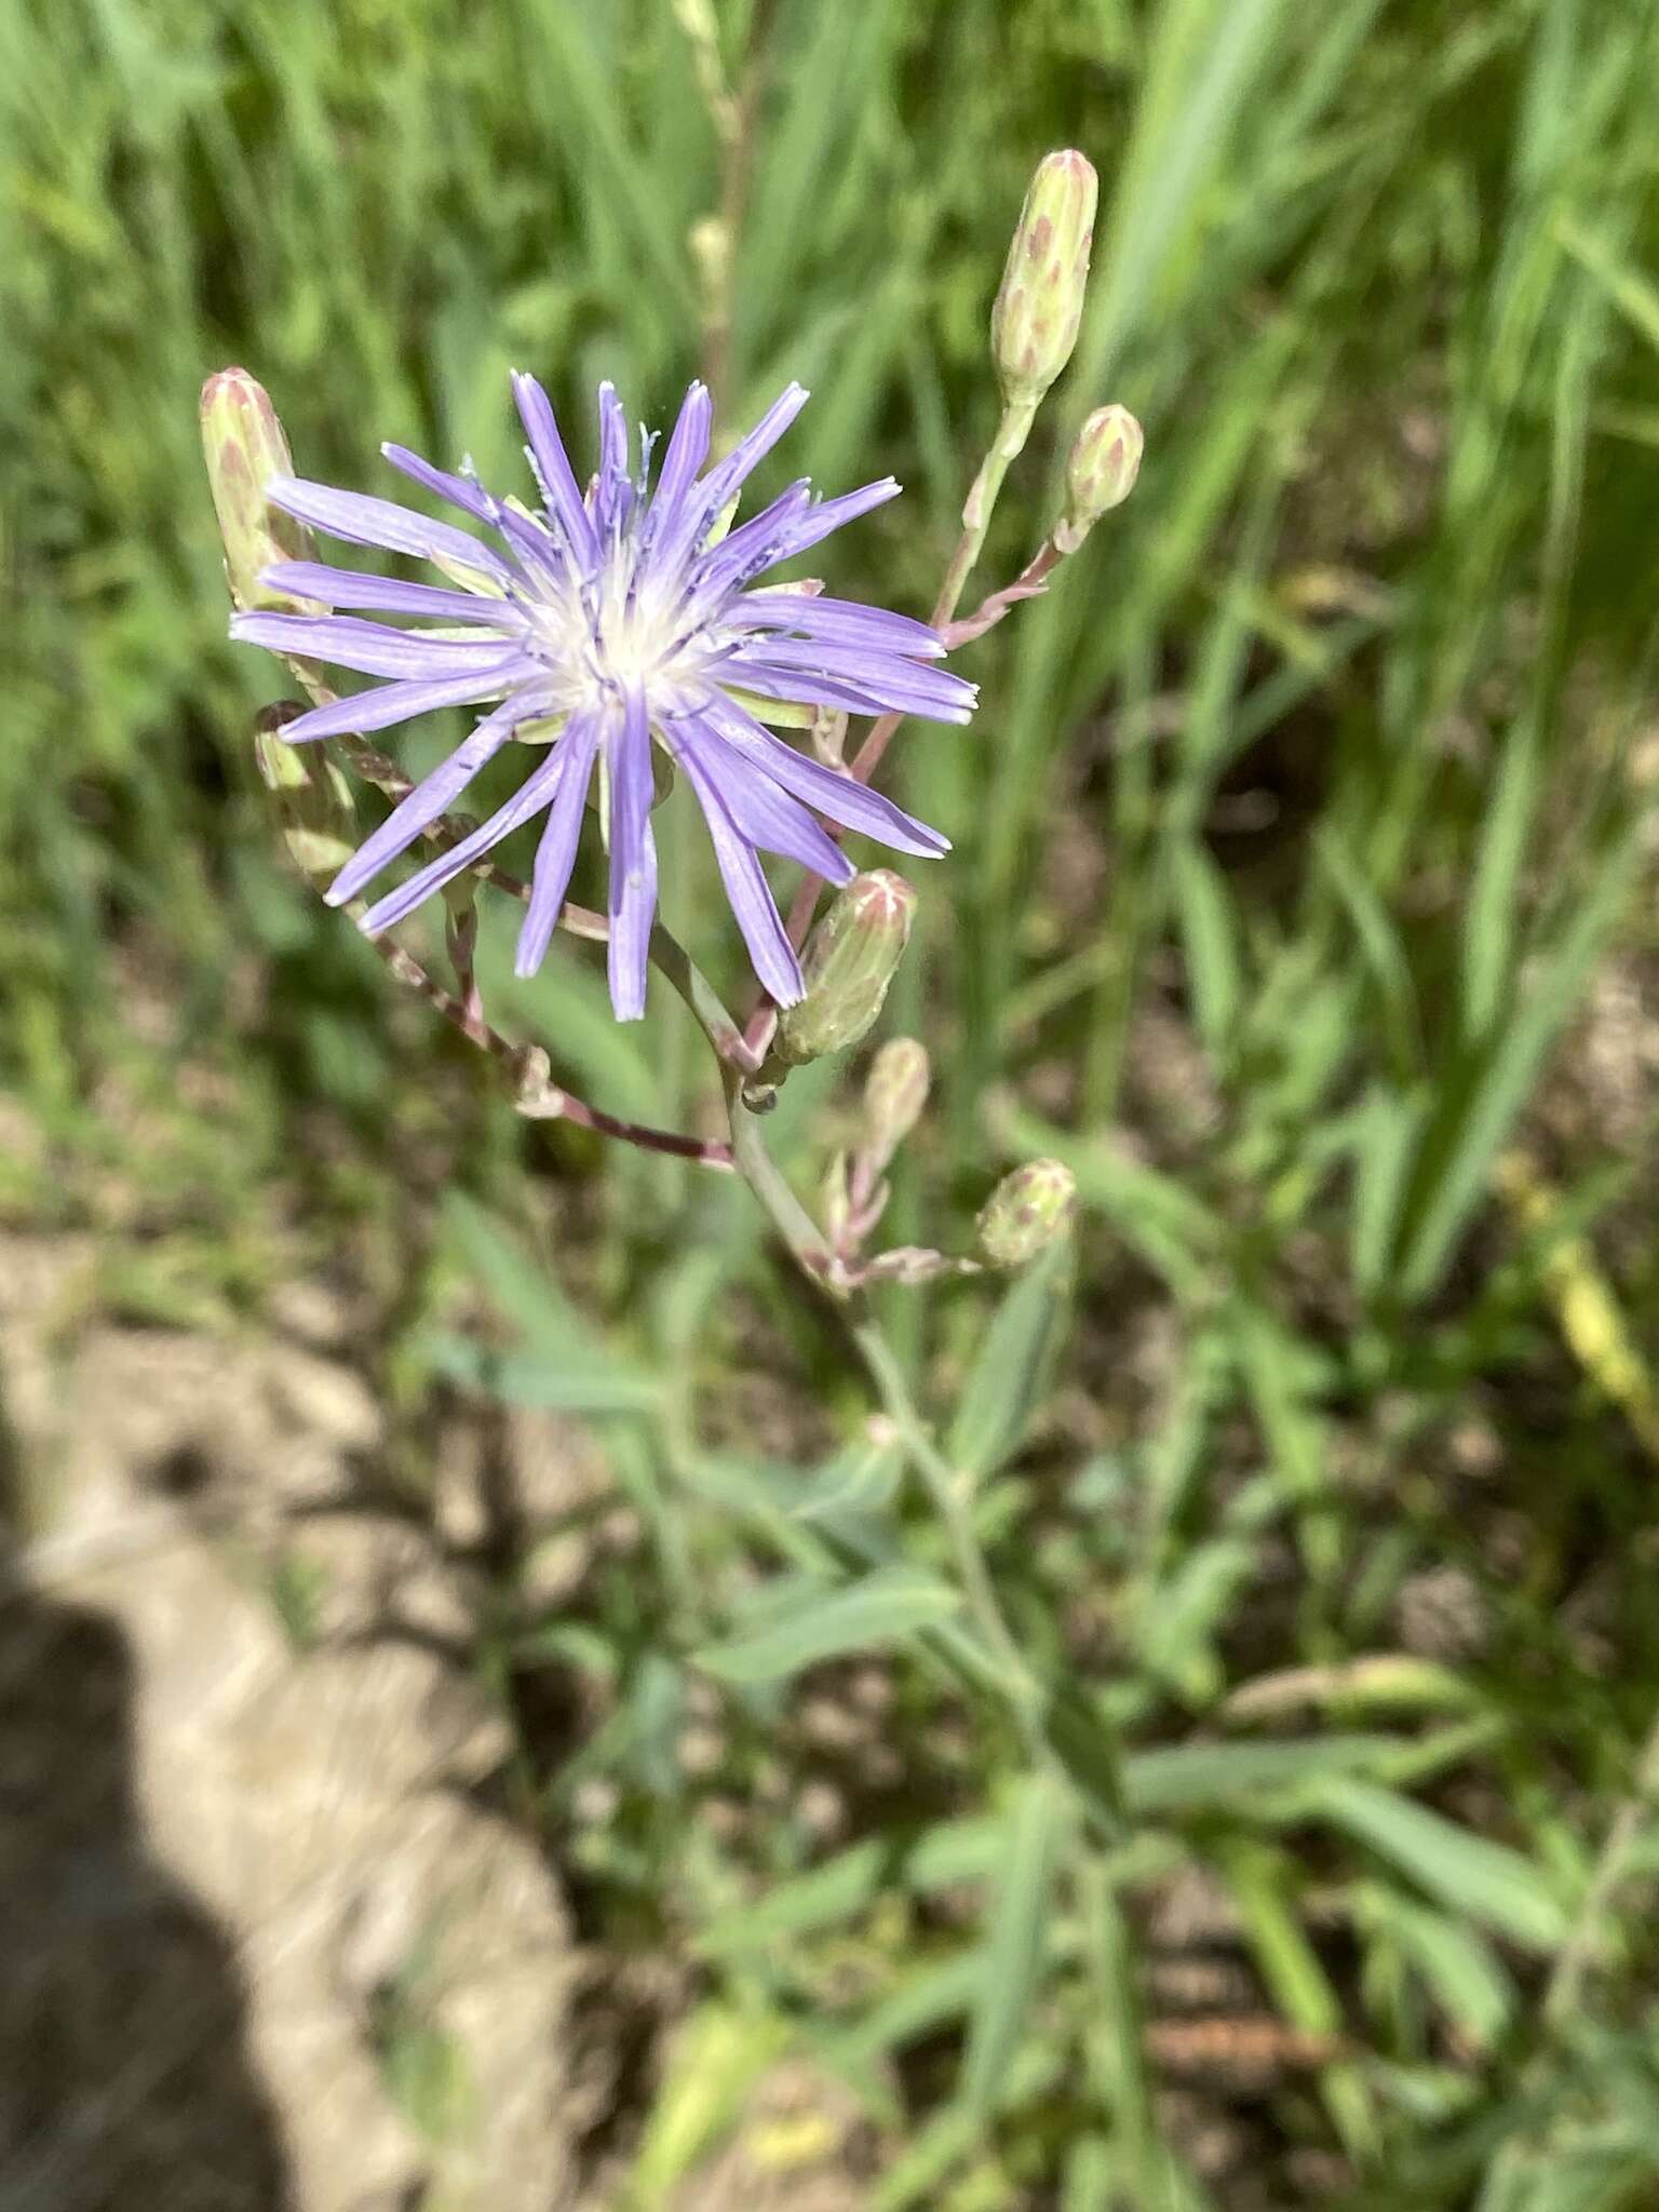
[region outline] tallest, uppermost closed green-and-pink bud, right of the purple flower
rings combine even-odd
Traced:
[[[1037,164],[991,307],[991,358],[1002,398],[1035,407],[1071,361],[1088,283],[1099,184],[1079,153]]]

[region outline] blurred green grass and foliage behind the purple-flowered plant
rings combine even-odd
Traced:
[[[1079,1177],[1075,1329],[984,1542],[1033,1648],[1152,1761],[1141,1856],[1055,1898],[971,2119],[971,1913],[845,1874],[745,1951],[734,1900],[821,1856],[796,1794],[697,1845],[708,1785],[630,1765],[619,1717],[672,1701],[695,1641],[661,1559],[723,1590],[752,1555],[734,1504],[615,1429],[668,1588],[626,1613],[606,1584],[597,1641],[544,1659],[602,1683],[619,1809],[584,1825],[538,1772],[524,1818],[593,1942],[695,1955],[697,2002],[834,2046],[889,2146],[872,2203],[1652,2203],[1659,13],[734,0],[737,157],[699,20],[0,4],[4,1221],[91,1228],[84,1312],[135,1325],[257,1332],[294,1274],[367,1285],[352,1356],[414,1498],[431,1405],[480,1378],[456,1314],[480,1281],[511,1310],[531,1245],[520,1318],[560,1276],[595,1360],[684,1376],[681,1458],[832,1453],[860,1389],[783,1310],[743,1192],[526,1137],[281,872],[246,734],[276,675],[223,635],[195,394],[241,361],[303,473],[385,491],[383,438],[511,482],[509,365],[580,445],[599,376],[661,422],[714,361],[728,427],[799,376],[787,473],[907,487],[836,540],[832,588],[925,613],[995,425],[1024,181],[1084,148],[1084,332],[984,586],[1053,520],[1091,407],[1141,416],[1146,467],[964,653],[973,728],[894,754],[956,854],[889,1011],[938,1075],[891,1241],[960,1241],[1013,1159]],[[675,852],[670,918],[737,989]],[[498,1006],[613,1110],[699,1110],[677,1009],[615,1031],[580,951]],[[834,1084],[787,1099],[810,1179]],[[987,1305],[894,1303],[942,1402]],[[929,1820],[995,1820],[1006,1743],[962,1743],[907,1677],[889,1725],[916,1787],[843,1851],[896,1867]],[[801,1772],[787,1705],[748,1710],[739,1798],[763,1743]],[[1248,1984],[1197,2035],[1157,1975],[1110,1975],[1099,1918],[1194,1867]],[[967,1849],[958,1887],[984,1869]],[[650,2097],[628,2126],[653,2139]]]

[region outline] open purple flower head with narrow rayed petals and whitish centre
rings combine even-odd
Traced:
[[[692,385],[655,487],[650,440],[641,436],[639,471],[630,476],[622,400],[602,385],[599,471],[586,498],[542,387],[513,376],[513,396],[529,434],[540,513],[493,498],[471,473],[449,476],[398,445],[383,447],[416,484],[487,524],[495,544],[327,484],[276,478],[268,487],[272,504],[301,522],[354,544],[420,555],[451,586],[387,582],[314,562],[268,568],[263,582],[294,597],[429,624],[237,615],[232,637],[389,679],[301,714],[283,737],[385,730],[427,708],[500,701],[365,841],[327,896],[334,905],[354,898],[460,799],[509,739],[526,741],[542,750],[513,799],[369,907],[363,927],[389,929],[542,814],[515,962],[520,975],[531,975],[564,905],[597,765],[611,847],[611,1002],[619,1020],[637,1020],[657,909],[655,741],[690,781],[754,971],[787,1006],[801,998],[801,964],[759,854],[783,854],[830,883],[847,883],[854,865],[818,816],[898,852],[940,854],[947,841],[878,792],[787,745],[765,721],[785,719],[779,703],[854,714],[900,708],[931,721],[967,721],[975,695],[971,684],[929,666],[945,646],[920,622],[816,597],[810,586],[750,586],[894,498],[898,484],[887,478],[838,500],[814,500],[803,480],[728,533],[739,487],[805,405],[799,385],[706,473],[699,471],[708,458],[710,400]]]

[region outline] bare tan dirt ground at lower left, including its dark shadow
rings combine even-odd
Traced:
[[[316,1343],[55,1347],[82,1261],[0,1279],[2,2212],[573,2201],[566,1916],[467,1798],[502,1723],[363,1509],[374,1402]]]

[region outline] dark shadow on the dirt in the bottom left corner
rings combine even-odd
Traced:
[[[290,2212],[223,1929],[150,1854],[133,1661],[29,1590],[0,1411],[0,2212]]]

